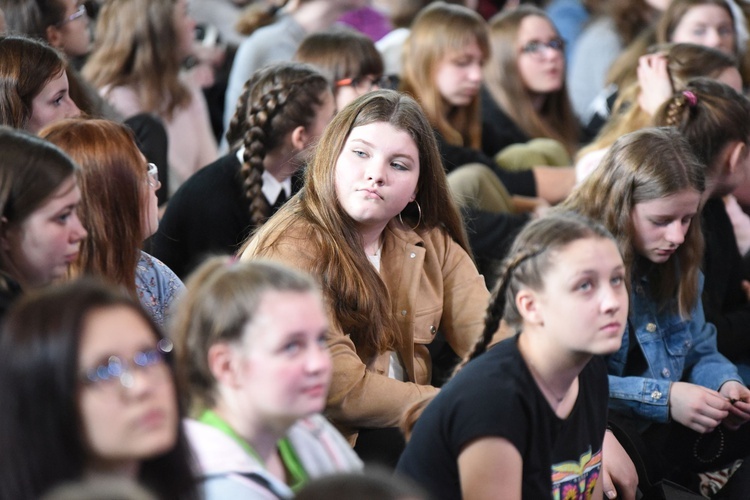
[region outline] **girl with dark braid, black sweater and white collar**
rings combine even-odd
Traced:
[[[229,154],[170,199],[153,254],[178,276],[209,254],[233,254],[299,188],[293,178],[334,113],[328,81],[311,66],[278,63],[245,84],[227,133]]]

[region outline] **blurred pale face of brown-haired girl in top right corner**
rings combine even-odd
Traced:
[[[734,55],[737,39],[732,17],[725,8],[696,5],[682,16],[670,42],[695,43]]]

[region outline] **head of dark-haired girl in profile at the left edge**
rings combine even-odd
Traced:
[[[0,316],[22,292],[64,278],[86,230],[78,167],[35,136],[0,127]]]

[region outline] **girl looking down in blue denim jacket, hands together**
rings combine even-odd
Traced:
[[[707,114],[694,90],[668,101],[665,112],[676,117],[677,107],[688,107],[685,112]],[[646,492],[665,478],[697,490],[696,473],[720,470],[748,453],[750,428],[740,426],[750,420],[750,389],[717,350],[716,328],[705,318],[699,217],[706,191],[719,179],[706,177],[703,162],[713,164],[717,154],[741,157],[745,147],[730,140],[716,149],[721,134],[707,133],[708,116],[700,120],[706,129],[690,139],[701,146],[691,148],[672,127],[618,139],[565,202],[603,222],[629,269],[628,329],[607,359],[609,408],[618,438],[628,436],[620,441],[635,444],[628,452]],[[702,149],[700,158],[695,149]],[[706,488],[707,496],[714,493]]]

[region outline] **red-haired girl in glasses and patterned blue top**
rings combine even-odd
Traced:
[[[107,120],[63,120],[40,132],[81,166],[81,220],[89,237],[71,266],[72,274],[93,274],[137,297],[158,324],[169,318],[182,281],[143,252],[156,232],[160,184],[124,125]]]

